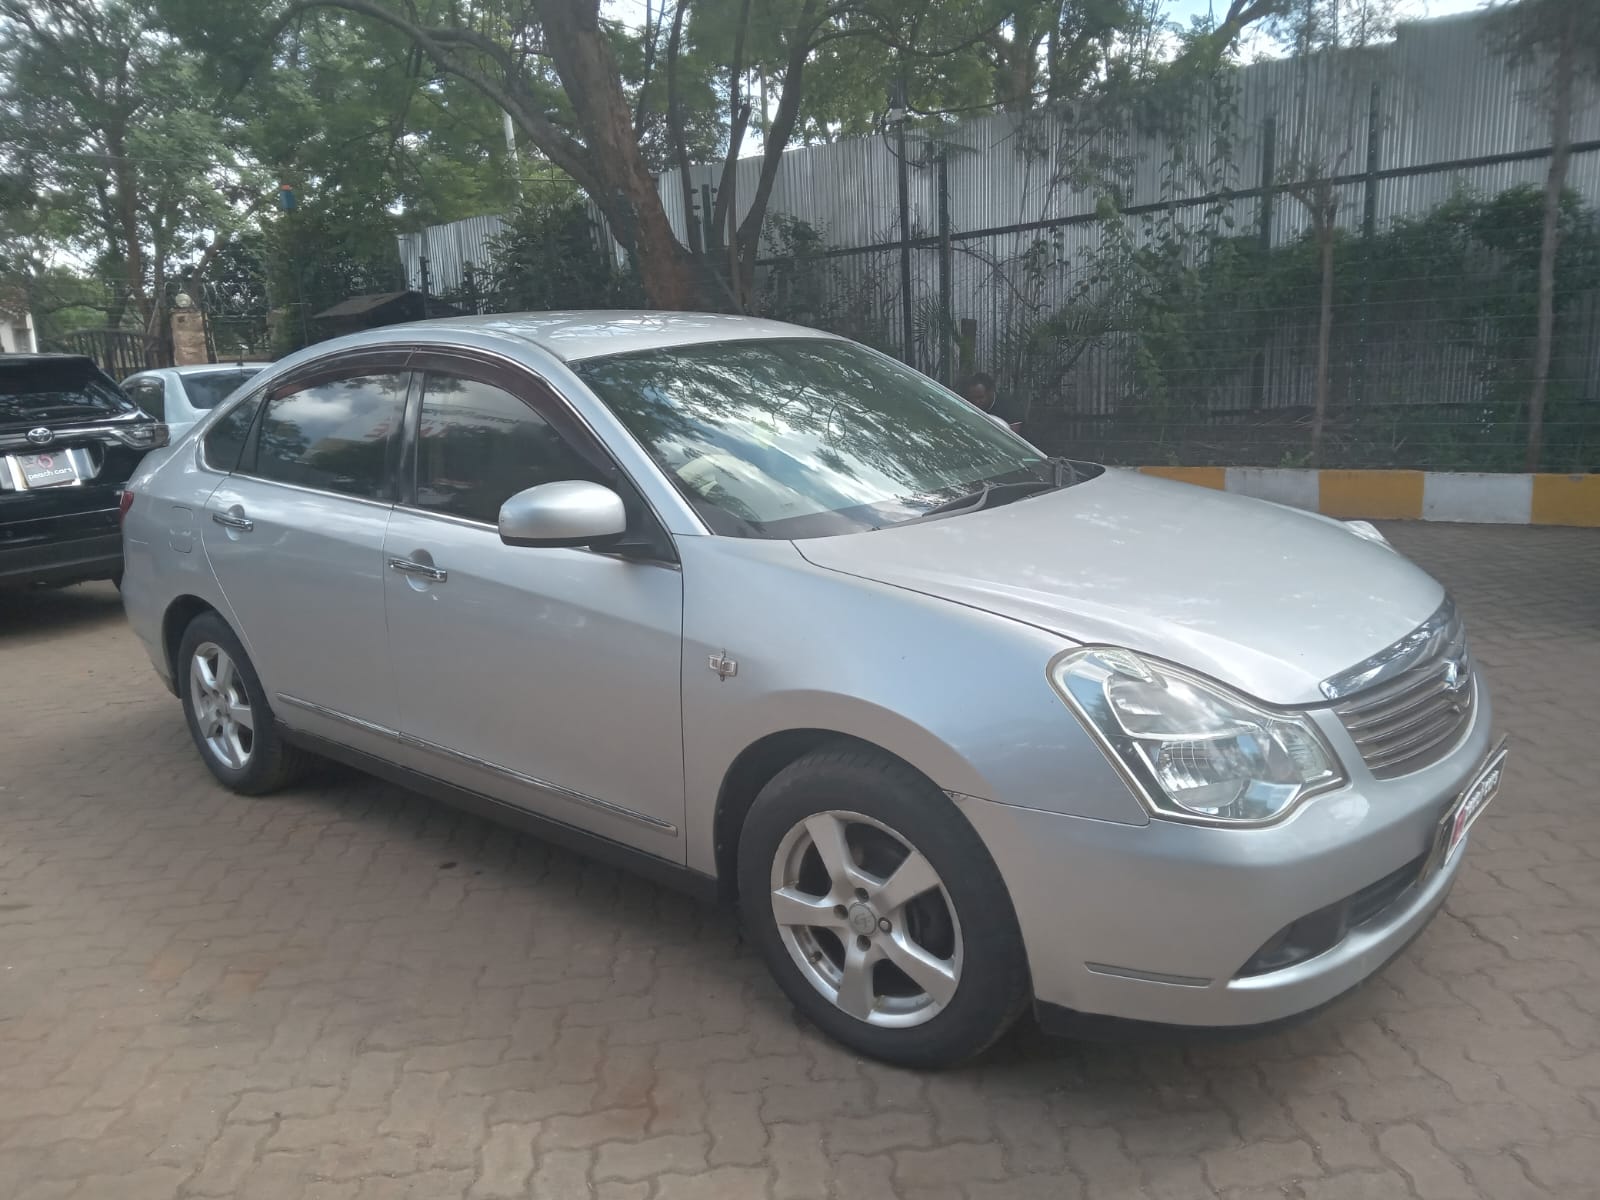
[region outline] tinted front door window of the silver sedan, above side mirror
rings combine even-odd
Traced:
[[[605,482],[531,406],[493,384],[429,371],[416,442],[416,502],[494,523],[523,488]]]

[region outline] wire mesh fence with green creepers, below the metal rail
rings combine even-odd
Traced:
[[[1386,182],[1373,181],[1379,195]],[[1261,208],[1258,229],[1203,229],[1182,246],[1150,227],[1130,237],[1118,218],[955,230],[947,245],[802,248],[763,262],[762,298],[766,315],[845,333],[946,382],[994,376],[1003,414],[1048,450],[1189,466],[1520,469],[1541,192],[1459,192],[1421,214],[1286,243],[1274,243]],[[909,330],[901,258],[912,264]],[[1600,214],[1573,195],[1552,304],[1541,466],[1592,470]]]

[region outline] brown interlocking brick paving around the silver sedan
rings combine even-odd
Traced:
[[[1448,914],[1293,1032],[926,1077],[725,914],[354,774],[221,792],[109,589],[0,602],[0,1197],[1600,1195],[1600,533],[1394,533],[1518,742]]]

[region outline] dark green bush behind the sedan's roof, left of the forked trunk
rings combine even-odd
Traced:
[[[571,187],[525,200],[493,250],[488,299],[496,312],[642,304],[637,275],[602,250],[589,206]]]

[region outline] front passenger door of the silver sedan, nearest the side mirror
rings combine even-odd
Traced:
[[[413,360],[410,488],[384,538],[389,654],[413,765],[683,861],[682,576],[670,538],[571,410],[520,368]],[[515,547],[501,504],[616,488],[654,549]]]

